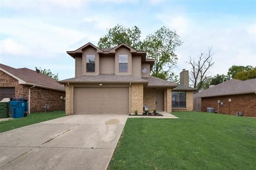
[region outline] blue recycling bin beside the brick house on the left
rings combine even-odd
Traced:
[[[27,101],[9,101],[11,106],[12,118],[24,117]]]

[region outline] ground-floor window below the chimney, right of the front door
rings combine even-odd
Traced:
[[[186,108],[186,91],[172,91],[172,108]]]

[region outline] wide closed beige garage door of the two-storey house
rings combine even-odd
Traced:
[[[76,114],[129,113],[129,88],[75,88]]]

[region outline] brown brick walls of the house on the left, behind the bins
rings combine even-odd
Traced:
[[[14,87],[15,97],[28,99],[31,86],[19,84],[17,79],[0,71],[0,87]],[[30,95],[30,112],[44,112],[46,104],[50,106],[50,111],[60,111],[65,108],[64,100],[60,99],[60,96],[65,97],[65,92],[34,87],[30,89]]]

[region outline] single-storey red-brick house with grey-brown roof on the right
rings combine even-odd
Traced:
[[[215,112],[236,115],[242,112],[244,116],[256,117],[256,79],[231,79],[198,92],[194,98],[201,98],[201,110],[214,108]],[[219,104],[218,104],[219,100]]]

